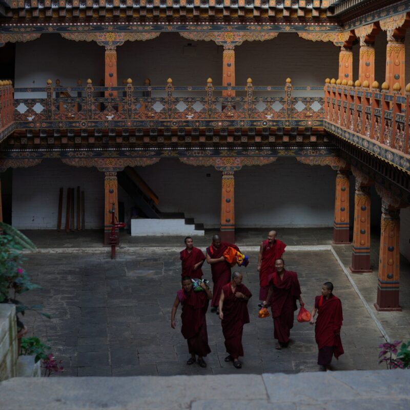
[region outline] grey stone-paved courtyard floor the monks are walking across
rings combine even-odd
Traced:
[[[317,371],[314,327],[295,321],[290,348],[276,351],[272,318],[257,317],[257,253],[241,268],[250,300],[251,323],[245,325],[243,367],[225,363],[221,325],[216,314],[207,314],[212,353],[208,367],[188,366],[188,349],[180,329],[170,326],[172,303],[180,286],[180,260],[176,253],[149,251],[144,255],[33,254],[26,269],[43,290],[31,292],[27,303],[42,303],[52,319],[34,313],[24,322],[29,335],[47,340],[63,376],[193,375],[230,373],[298,373]],[[331,280],[343,303],[342,341],[345,354],[334,361],[335,370],[373,370],[378,364],[378,344],[383,338],[363,303],[330,251],[285,253],[286,267],[298,272],[306,307],[312,309],[321,284]],[[210,267],[204,264],[210,278]]]

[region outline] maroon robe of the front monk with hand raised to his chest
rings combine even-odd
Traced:
[[[223,290],[223,319],[222,333],[225,338],[225,347],[227,352],[234,359],[243,356],[242,347],[242,332],[243,325],[249,323],[248,300],[235,297],[232,292],[231,283],[222,287]],[[252,297],[252,293],[245,285],[237,285],[235,293],[241,292],[248,298]]]

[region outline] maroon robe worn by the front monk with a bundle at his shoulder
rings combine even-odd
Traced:
[[[180,293],[180,292],[179,292]],[[178,295],[179,297],[180,295]],[[189,353],[207,356],[211,353],[208,345],[207,319],[209,299],[206,292],[189,293],[183,291],[182,304],[182,336],[187,339]]]

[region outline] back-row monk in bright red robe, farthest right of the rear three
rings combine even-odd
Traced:
[[[269,232],[268,239],[260,244],[258,256],[259,300],[267,300],[269,277],[275,270],[276,259],[282,257],[285,248],[286,244],[276,239],[276,231]]]

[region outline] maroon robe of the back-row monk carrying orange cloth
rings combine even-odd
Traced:
[[[234,248],[239,251],[239,248],[236,245],[228,242],[221,242],[219,248],[215,248],[214,245],[211,244],[211,246],[207,248],[207,253],[212,259],[218,259],[223,256],[223,252],[225,252],[228,247]],[[212,263],[211,272],[212,281],[214,282],[211,306],[217,307],[219,304],[219,298],[221,296],[222,286],[231,281],[231,265],[226,261]]]

